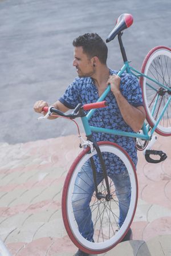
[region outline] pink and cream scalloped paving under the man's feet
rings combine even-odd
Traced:
[[[61,192],[80,151],[78,144],[75,135],[0,144],[0,237],[13,256],[74,255],[76,247],[63,226]],[[104,255],[171,255],[170,137],[158,136],[155,149],[166,152],[168,159],[149,164],[139,152],[133,241],[120,243]]]

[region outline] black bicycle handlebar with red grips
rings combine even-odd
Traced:
[[[42,111],[47,112],[48,115],[51,115],[51,113],[57,113],[59,116],[64,116],[64,117],[69,117],[71,119],[74,119],[76,117],[83,117],[86,114],[84,111],[88,111],[93,108],[104,108],[107,107],[107,101],[100,101],[100,102],[95,102],[95,103],[89,103],[89,104],[78,104],[76,108],[69,114],[65,114],[59,109],[56,109],[54,107],[43,107]]]

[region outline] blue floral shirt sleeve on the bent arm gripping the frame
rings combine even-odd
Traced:
[[[144,105],[141,87],[136,76],[125,74],[121,79],[121,89],[123,89],[123,96],[128,100],[129,104],[134,107]]]

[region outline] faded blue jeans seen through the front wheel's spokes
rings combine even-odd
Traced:
[[[127,173],[109,174],[108,176],[115,184],[120,210],[118,224],[121,227],[127,216],[131,199],[131,184],[129,176]],[[103,173],[96,173],[96,179],[97,184],[100,184],[100,182],[103,180]],[[74,210],[75,220],[79,227],[79,232],[88,241],[92,241],[93,239],[93,222],[89,203],[91,202],[94,191],[95,186],[93,182],[91,165],[89,162],[86,162],[76,177],[74,193],[72,196],[72,207]],[[123,201],[124,204],[122,203]]]

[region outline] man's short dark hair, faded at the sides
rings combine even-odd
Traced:
[[[74,39],[72,44],[75,47],[82,46],[83,52],[87,54],[89,58],[97,56],[101,63],[106,64],[108,47],[103,39],[96,33],[80,35],[78,38]]]

